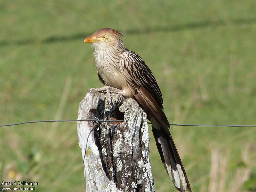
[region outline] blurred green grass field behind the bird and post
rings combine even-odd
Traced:
[[[76,119],[101,87],[84,38],[116,28],[153,71],[170,123],[256,124],[253,0],[0,1],[0,124]],[[256,191],[256,129],[172,127],[193,191]],[[175,191],[150,132],[157,192]],[[76,123],[0,129],[0,180],[84,191]]]

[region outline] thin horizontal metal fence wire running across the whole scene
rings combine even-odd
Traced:
[[[98,120],[98,119],[71,119],[71,120],[46,120],[46,121],[27,121],[14,124],[4,124],[0,127],[7,127],[12,125],[21,125],[28,123],[44,123],[44,122],[70,122],[70,121],[98,121],[98,122],[122,122],[123,120]],[[148,124],[152,124],[148,122]],[[256,127],[256,125],[200,125],[200,124],[170,124],[173,126],[195,126],[195,127]]]

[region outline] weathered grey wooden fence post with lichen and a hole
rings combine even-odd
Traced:
[[[133,99],[91,89],[77,122],[87,192],[153,192],[147,116]],[[122,122],[124,120],[124,122]]]

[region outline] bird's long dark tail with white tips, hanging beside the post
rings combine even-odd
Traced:
[[[166,172],[179,191],[191,192],[186,172],[181,163],[179,153],[175,147],[169,130],[168,134],[166,131],[164,131],[164,128],[162,128],[161,125],[156,122],[156,120],[152,120],[152,131],[156,140],[156,146]]]

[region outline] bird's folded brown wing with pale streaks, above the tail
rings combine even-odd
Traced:
[[[151,70],[140,56],[131,50],[126,50],[120,60],[120,69],[134,97],[146,112],[163,127],[170,127],[163,111],[162,93]]]

